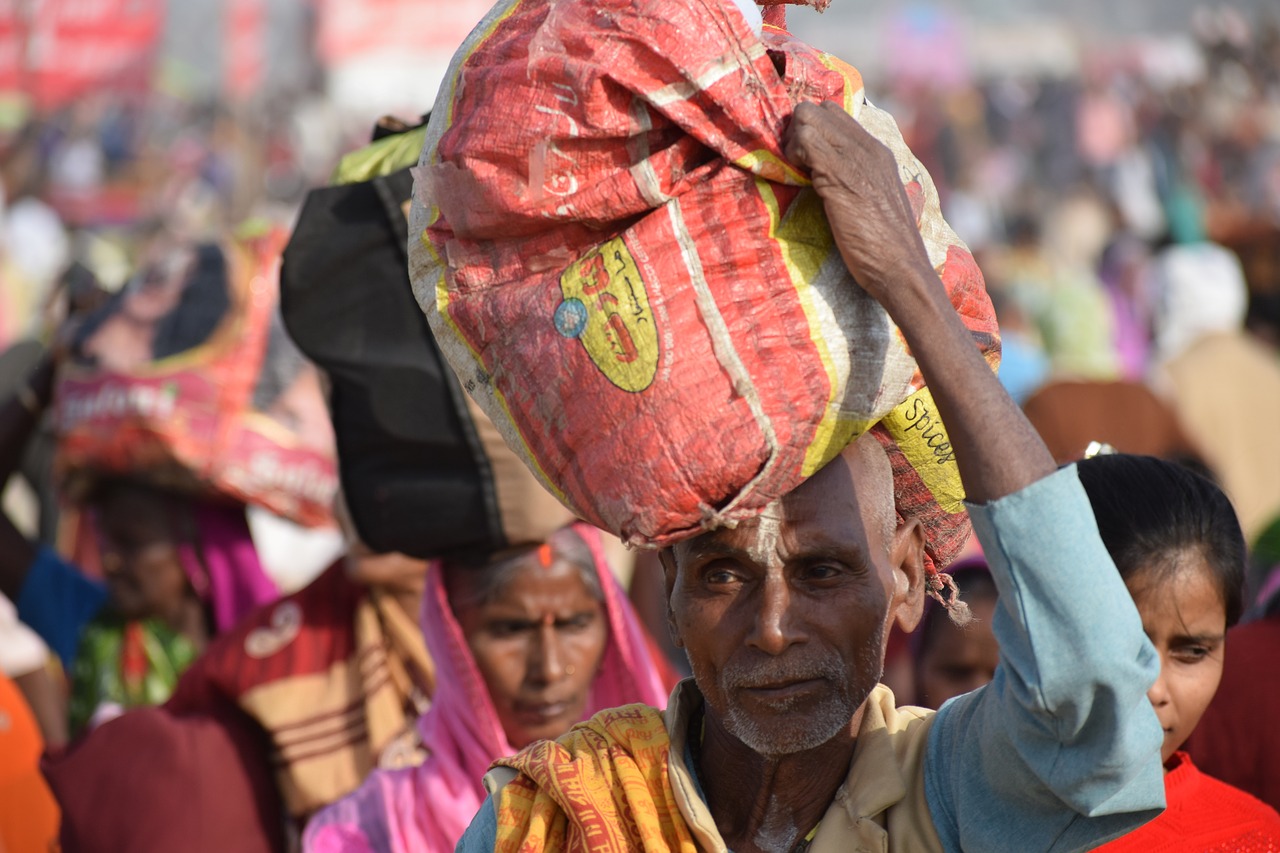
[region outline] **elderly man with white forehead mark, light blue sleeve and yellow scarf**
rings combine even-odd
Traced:
[[[666,712],[608,711],[499,762],[460,850],[1083,850],[1162,806],[1158,661],[1074,469],[965,332],[888,150],[804,104],[787,154],[950,428],[1001,593],[996,679],[937,713],[877,685],[890,625],[920,617],[924,537],[863,437],[759,519],[663,555],[692,680]]]

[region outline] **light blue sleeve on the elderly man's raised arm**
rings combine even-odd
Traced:
[[[925,795],[947,850],[1089,850],[1165,804],[1160,660],[1075,467],[970,506],[1000,667],[938,711]]]

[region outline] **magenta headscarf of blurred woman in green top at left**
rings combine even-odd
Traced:
[[[280,592],[262,571],[243,506],[193,501],[192,514],[198,542],[178,546],[178,558],[196,594],[212,611],[214,633],[221,634]]]

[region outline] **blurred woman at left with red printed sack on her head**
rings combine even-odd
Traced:
[[[247,503],[324,525],[337,482],[315,368],[273,323],[278,246],[273,261],[257,233],[152,232],[105,301],[68,269],[56,341],[0,410],[8,479],[55,409],[68,511],[41,535],[6,507],[0,589],[60,660],[72,736],[168,699],[214,635],[279,596]]]

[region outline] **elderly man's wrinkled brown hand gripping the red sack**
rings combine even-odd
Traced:
[[[890,307],[895,282],[932,269],[893,154],[840,105],[796,106],[783,151],[812,173],[845,265],[877,301]]]

